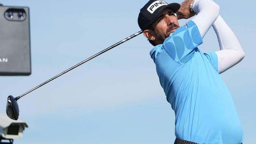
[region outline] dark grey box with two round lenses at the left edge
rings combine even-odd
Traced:
[[[0,5],[0,75],[30,74],[29,7]]]

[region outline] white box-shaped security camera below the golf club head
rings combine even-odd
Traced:
[[[25,122],[15,121],[7,117],[6,114],[0,114],[0,143],[1,139],[21,138],[25,127],[28,127]]]

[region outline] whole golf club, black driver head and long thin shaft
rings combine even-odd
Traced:
[[[128,41],[128,40],[134,38],[135,36],[138,36],[138,35],[141,34],[141,33],[143,33],[143,31],[139,31],[139,32],[137,32],[137,33],[135,33],[135,34],[133,34],[133,35],[131,35],[131,36],[129,36],[129,37],[123,39],[122,41],[115,43],[114,45],[112,45],[112,46],[106,48],[105,50],[103,50],[103,51],[101,51],[101,52],[99,52],[99,53],[97,53],[97,54],[95,54],[95,55],[93,55],[93,56],[87,58],[86,60],[84,60],[84,61],[82,61],[82,62],[76,64],[75,66],[70,67],[69,69],[65,70],[64,72],[62,72],[62,73],[58,74],[57,76],[55,76],[55,77],[53,77],[53,78],[51,78],[51,79],[45,81],[44,83],[42,83],[42,84],[36,86],[35,88],[33,88],[33,89],[27,91],[26,93],[24,93],[24,94],[22,94],[22,95],[20,95],[20,96],[18,96],[18,97],[16,97],[16,98],[14,98],[14,97],[11,96],[11,95],[8,96],[8,98],[7,98],[7,104],[6,104],[6,114],[7,114],[7,116],[8,116],[9,118],[13,119],[13,120],[18,120],[18,118],[19,118],[19,106],[18,106],[18,102],[17,102],[17,101],[18,101],[21,97],[23,97],[23,96],[25,96],[26,94],[32,92],[33,90],[36,90],[36,89],[40,88],[41,86],[43,86],[43,85],[45,85],[46,83],[48,83],[48,82],[54,80],[55,78],[60,77],[61,75],[63,75],[63,74],[65,74],[65,73],[69,72],[70,70],[72,70],[72,69],[74,69],[74,68],[76,68],[76,67],[78,67],[78,66],[84,64],[85,62],[87,62],[87,61],[89,61],[89,60],[95,58],[96,56],[98,56],[98,55],[100,55],[100,54],[103,54],[103,53],[109,51],[110,49],[112,49],[112,48],[114,48],[114,47],[116,47],[116,46],[122,44],[123,42],[126,42],[126,41]]]

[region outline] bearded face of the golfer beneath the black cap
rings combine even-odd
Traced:
[[[153,35],[150,37],[151,39],[148,39],[156,44],[162,44],[179,27],[173,11],[170,8],[165,8],[152,24],[153,30],[148,30]]]

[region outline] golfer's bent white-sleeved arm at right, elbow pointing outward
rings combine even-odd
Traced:
[[[212,25],[219,41],[220,51],[217,51],[218,71],[223,73],[227,69],[238,64],[245,53],[237,40],[237,37],[221,16],[218,16]]]

